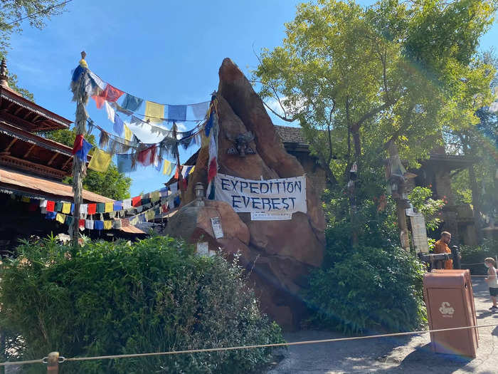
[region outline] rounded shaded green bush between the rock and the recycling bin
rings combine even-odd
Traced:
[[[423,267],[403,249],[359,246],[314,271],[306,301],[312,322],[345,333],[410,331],[425,323]]]

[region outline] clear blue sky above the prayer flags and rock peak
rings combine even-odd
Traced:
[[[250,76],[258,64],[254,51],[280,45],[284,23],[292,21],[300,2],[73,0],[42,31],[23,24],[23,33],[11,38],[8,67],[39,105],[70,120],[75,113],[70,72],[83,50],[92,71],[140,98],[169,104],[207,101],[218,87],[223,58],[232,58]],[[497,40],[495,23],[481,48],[487,50]],[[96,110],[92,100],[88,112],[112,131],[104,110]],[[187,157],[182,155],[181,161]],[[129,177],[132,196],[166,181],[151,167]]]

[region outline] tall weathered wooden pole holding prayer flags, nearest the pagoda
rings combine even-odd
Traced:
[[[86,53],[81,52],[81,59],[85,61]],[[76,96],[76,118],[75,128],[76,135],[85,135],[87,114],[85,110],[85,98],[83,96],[82,78],[83,73],[78,82],[78,93]],[[74,210],[73,210],[73,230],[70,230],[70,235],[73,239],[73,246],[78,246],[78,230],[80,229],[80,204],[83,194],[83,176],[86,171],[86,160],[80,160],[76,155],[73,156],[73,192],[74,192]]]

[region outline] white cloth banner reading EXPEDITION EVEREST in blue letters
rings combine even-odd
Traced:
[[[215,199],[228,202],[238,213],[306,213],[306,177],[244,180],[218,173]]]

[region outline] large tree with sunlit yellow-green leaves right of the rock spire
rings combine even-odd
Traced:
[[[263,50],[254,72],[260,95],[281,104],[280,118],[300,123],[332,188],[344,191],[358,165],[350,207],[336,214],[378,196],[381,186],[366,187],[381,181],[370,175],[382,174],[387,155],[417,166],[443,143],[444,129],[479,122],[475,110],[491,100],[494,68],[476,48],[496,8],[494,0],[366,8],[318,0],[297,7],[282,46]]]

